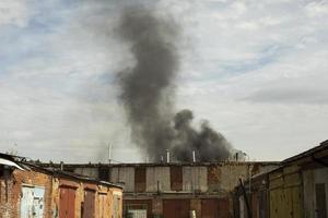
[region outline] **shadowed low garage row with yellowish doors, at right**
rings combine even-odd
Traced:
[[[328,141],[253,177],[235,189],[235,217],[248,217],[248,203],[254,218],[327,218],[327,167]]]

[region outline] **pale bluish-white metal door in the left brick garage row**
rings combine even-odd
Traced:
[[[23,186],[21,218],[42,218],[44,216],[44,187]]]

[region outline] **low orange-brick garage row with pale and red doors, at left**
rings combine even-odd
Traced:
[[[0,154],[1,218],[121,218],[122,187]]]

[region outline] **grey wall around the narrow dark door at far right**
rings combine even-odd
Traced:
[[[315,218],[316,210],[316,184],[325,183],[326,189],[326,208],[328,209],[328,168],[320,168],[315,170],[305,170],[303,175],[304,189],[304,208],[305,218]]]

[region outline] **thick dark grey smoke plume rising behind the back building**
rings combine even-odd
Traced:
[[[191,150],[201,161],[224,160],[231,145],[220,133],[207,122],[194,129],[190,110],[174,116],[179,32],[175,22],[150,9],[122,10],[118,33],[130,46],[136,64],[117,75],[132,140],[151,160],[159,160],[166,149],[179,161],[190,160]]]

